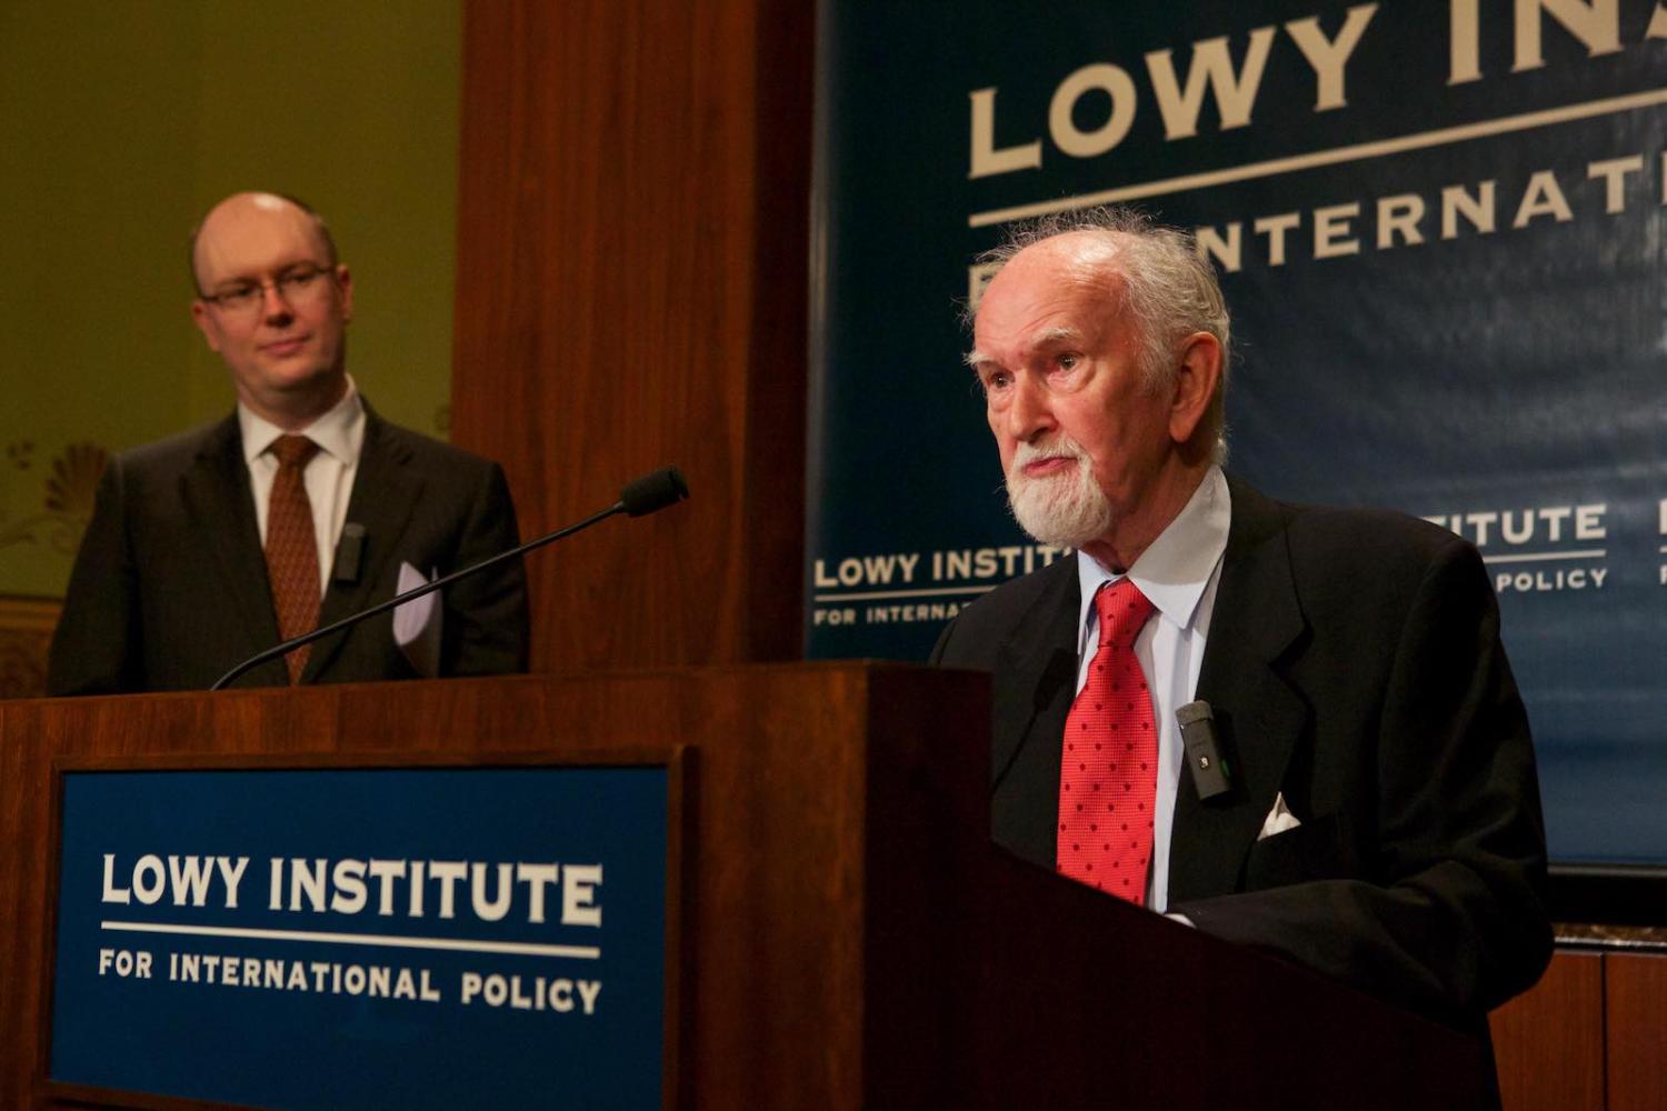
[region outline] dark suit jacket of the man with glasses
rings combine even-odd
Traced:
[[[512,548],[503,471],[367,406],[347,520],[365,526],[355,581],[323,595],[320,625],[385,601],[400,561],[442,575]],[[442,675],[527,670],[520,561],[447,588]],[[53,695],[205,690],[278,643],[237,416],[113,458],[52,641]],[[303,683],[415,678],[385,613],[313,645]],[[237,686],[282,686],[283,661]]]

